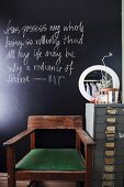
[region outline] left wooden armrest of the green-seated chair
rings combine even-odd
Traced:
[[[13,136],[12,139],[10,139],[9,141],[4,142],[3,145],[12,145],[14,143],[16,143],[18,141],[20,141],[21,139],[25,138],[26,135],[31,134],[35,129],[27,129],[23,132],[21,132],[20,134]]]

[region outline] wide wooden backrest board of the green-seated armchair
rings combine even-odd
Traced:
[[[82,129],[82,116],[30,116],[27,129]]]

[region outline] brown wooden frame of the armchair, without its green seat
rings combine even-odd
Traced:
[[[76,148],[84,145],[86,170],[16,170],[15,143],[25,136],[31,138],[31,150],[35,148],[35,131],[41,129],[72,129],[76,131]],[[4,142],[7,146],[8,187],[15,187],[16,180],[76,180],[91,187],[93,140],[82,130],[81,116],[31,116],[27,130]]]

